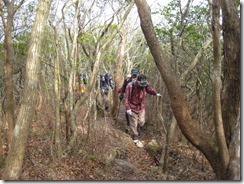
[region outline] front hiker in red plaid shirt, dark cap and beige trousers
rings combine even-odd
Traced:
[[[133,140],[138,142],[140,128],[145,124],[145,106],[146,94],[161,96],[147,82],[145,75],[138,75],[134,82],[130,82],[125,90],[125,108],[129,115],[130,128],[133,134]]]

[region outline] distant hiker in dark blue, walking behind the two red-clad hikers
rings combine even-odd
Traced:
[[[114,88],[115,83],[112,80],[112,76],[109,73],[105,75],[100,75],[100,90],[103,98],[103,103],[105,105],[105,110],[108,111],[108,91]]]

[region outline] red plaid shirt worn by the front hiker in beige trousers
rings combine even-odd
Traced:
[[[133,82],[130,82],[125,90],[125,108],[126,110],[131,109],[135,113],[141,112],[145,109],[146,94],[156,96],[157,92],[148,83],[146,87],[140,87],[137,81],[134,82],[134,90],[132,92]],[[132,94],[131,94],[132,92]]]

